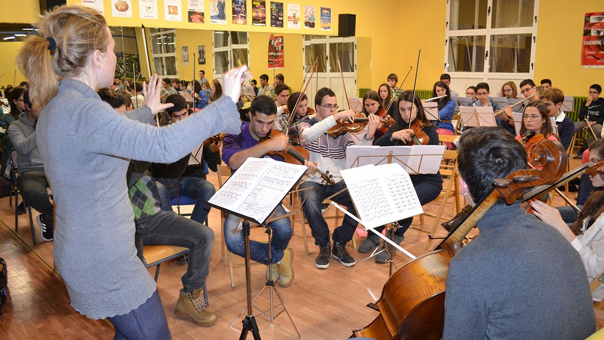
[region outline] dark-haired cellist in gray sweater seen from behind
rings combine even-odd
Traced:
[[[501,129],[474,128],[461,137],[458,166],[474,205],[495,178],[527,168],[527,154]],[[559,232],[502,200],[478,229],[449,264],[443,339],[585,339],[596,330],[585,269]]]

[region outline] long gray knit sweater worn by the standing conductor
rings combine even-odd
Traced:
[[[240,126],[227,96],[184,123],[155,128],[152,119],[148,106],[120,115],[85,83],[62,80],[37,122],[56,201],[54,260],[71,306],[91,318],[128,313],[155,291],[134,246],[129,159],[176,162],[208,137]]]

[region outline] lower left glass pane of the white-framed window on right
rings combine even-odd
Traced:
[[[450,72],[484,71],[485,36],[453,36],[449,38]]]

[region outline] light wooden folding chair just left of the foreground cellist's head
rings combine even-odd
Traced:
[[[445,161],[447,161],[445,163]],[[440,165],[440,174],[443,176],[449,176],[449,181],[443,191],[440,193],[439,197],[437,197],[434,201],[440,200],[439,210],[436,214],[429,214],[427,212],[422,215],[426,215],[429,217],[434,217],[434,224],[432,224],[432,229],[429,230],[428,234],[434,237],[436,230],[439,227],[440,220],[442,220],[443,211],[445,211],[445,206],[449,201],[449,198],[454,198],[454,206],[452,207],[452,211],[449,218],[452,218],[453,209],[456,212],[460,212],[461,204],[460,204],[460,192],[459,192],[459,172],[457,170],[457,151],[454,150],[445,150],[445,155],[443,155],[443,164]],[[422,218],[420,215],[420,219]],[[425,231],[425,230],[422,230]],[[431,245],[432,240],[428,238],[428,243],[426,243],[425,249],[428,249]]]

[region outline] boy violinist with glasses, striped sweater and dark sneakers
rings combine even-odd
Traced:
[[[300,189],[312,188],[310,191],[301,193],[302,200],[306,199],[303,205],[304,215],[308,219],[312,236],[315,238],[315,244],[319,246],[320,252],[315,260],[315,267],[326,269],[329,267],[329,251],[331,243],[329,240],[329,227],[323,214],[321,213],[321,203],[325,198],[330,197],[333,201],[345,206],[351,214],[356,215],[355,206],[348,192],[346,185],[342,180],[340,171],[346,168],[346,149],[350,145],[355,145],[355,140],[349,132],[344,132],[336,137],[326,134],[327,130],[335,126],[339,119],[353,122],[355,113],[352,110],[346,110],[336,113],[338,104],[336,95],[330,88],[321,88],[315,96],[316,115],[309,120],[303,120],[299,128],[301,145],[309,151],[310,162],[316,162],[318,168],[323,171],[329,171],[333,175],[335,185],[325,185],[321,177],[317,174],[310,177],[304,177],[300,184]],[[367,133],[360,140],[361,145],[371,145],[374,133],[379,125],[379,118],[373,114],[369,116]],[[342,226],[333,230],[333,250],[332,257],[339,261],[342,266],[353,266],[356,262],[346,250],[346,243],[352,240],[357,223],[353,218],[345,216]]]

